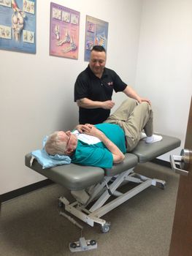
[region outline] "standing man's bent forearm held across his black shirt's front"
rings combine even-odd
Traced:
[[[77,105],[81,108],[104,108],[104,109],[112,109],[115,105],[112,100],[106,100],[105,102],[93,101],[88,98],[77,99]]]

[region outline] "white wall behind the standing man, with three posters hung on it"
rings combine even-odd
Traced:
[[[25,167],[25,154],[50,132],[77,124],[74,81],[88,65],[85,15],[109,22],[107,67],[134,86],[142,0],[54,2],[80,12],[79,59],[49,56],[50,1],[37,1],[37,54],[0,51],[0,194],[44,179]],[[117,105],[122,97],[115,96]]]

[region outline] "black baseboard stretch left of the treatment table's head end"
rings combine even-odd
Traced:
[[[20,195],[25,195],[29,192],[36,190],[36,189],[41,189],[42,187],[46,187],[50,184],[53,184],[53,181],[51,181],[50,179],[47,178],[43,181],[39,181],[37,183],[28,185],[26,187],[21,187],[20,189],[15,189],[10,192],[4,193],[4,194],[0,195],[0,203],[3,203],[7,200],[11,200],[15,197],[19,197]]]

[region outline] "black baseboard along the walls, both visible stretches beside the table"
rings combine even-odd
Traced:
[[[161,160],[161,159],[153,159],[151,162],[154,162],[155,164],[158,164],[158,165],[163,165],[165,167],[171,167],[170,162],[167,162],[167,161],[164,161],[164,160]],[[15,190],[12,190],[12,191],[7,192],[5,194],[2,194],[2,195],[0,195],[0,207],[1,207],[1,203],[5,202],[7,200],[11,200],[11,199],[13,199],[15,197],[18,197],[20,195],[25,195],[28,192],[32,192],[36,189],[41,189],[42,187],[46,187],[50,184],[53,184],[53,181],[50,181],[50,179],[47,178],[43,181],[39,181],[37,183],[28,185],[26,187],[21,187],[20,189],[15,189]]]

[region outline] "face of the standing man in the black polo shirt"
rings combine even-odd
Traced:
[[[104,71],[105,64],[106,64],[106,53],[104,51],[99,52],[96,50],[92,50],[90,61],[89,61],[89,67],[97,77],[101,78],[101,75],[103,74],[103,71]]]

